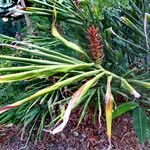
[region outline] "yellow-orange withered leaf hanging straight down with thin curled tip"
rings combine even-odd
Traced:
[[[106,124],[107,124],[107,136],[109,140],[109,148],[111,148],[111,135],[112,135],[112,111],[113,111],[113,96],[111,94],[111,81],[112,76],[109,76],[107,79],[107,89],[105,95],[106,103]]]

